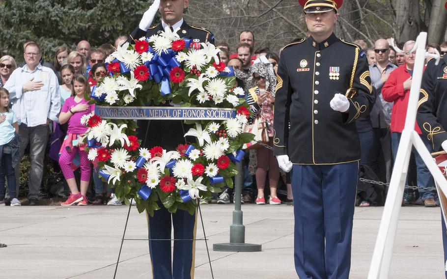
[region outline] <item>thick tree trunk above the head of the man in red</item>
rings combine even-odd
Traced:
[[[421,30],[419,0],[396,0],[397,41],[416,40]]]

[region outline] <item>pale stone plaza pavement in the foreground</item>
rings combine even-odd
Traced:
[[[215,279],[298,278],[293,264],[293,208],[243,205],[246,242],[261,252],[212,251],[229,241],[232,205],[202,205]],[[0,278],[113,278],[126,206],[0,207]],[[383,207],[356,208],[352,279],[367,277]],[[390,279],[441,279],[444,264],[438,208],[403,207]],[[203,237],[200,222],[197,238]],[[147,238],[146,216],[132,208],[126,238]],[[152,278],[147,241],[124,242],[117,279]],[[196,243],[196,279],[211,279],[204,241]]]

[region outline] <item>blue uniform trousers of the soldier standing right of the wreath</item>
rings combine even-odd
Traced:
[[[300,279],[348,279],[359,162],[294,165],[295,269]]]

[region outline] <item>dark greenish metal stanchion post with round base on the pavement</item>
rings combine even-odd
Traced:
[[[242,223],[243,212],[241,210],[242,193],[242,162],[236,163],[238,174],[236,175],[234,185],[234,211],[233,224],[230,226],[230,242],[218,243],[213,245],[214,251],[232,251],[232,252],[260,252],[261,244],[245,243],[245,226]]]

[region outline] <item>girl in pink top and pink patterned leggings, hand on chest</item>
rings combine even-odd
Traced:
[[[65,100],[62,110],[59,114],[59,123],[64,124],[68,121],[67,136],[60,148],[59,165],[62,169],[68,187],[70,196],[60,205],[69,206],[73,204],[87,205],[87,188],[90,182],[90,162],[87,158],[87,152],[84,151],[84,144],[78,144],[78,138],[82,136],[87,127],[81,124],[81,117],[95,111],[95,105],[89,105],[84,99],[84,92],[90,96],[90,86],[84,75],[76,75],[73,78],[73,87],[71,97]],[[78,191],[76,179],[73,173],[73,159],[79,154],[81,167],[81,193]],[[76,168],[76,167],[75,167]]]

